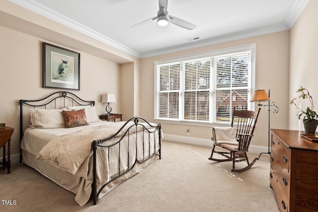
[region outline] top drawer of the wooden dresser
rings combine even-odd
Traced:
[[[280,139],[278,139],[274,135],[272,136],[271,152],[274,152],[276,154],[275,163],[280,164],[283,169],[289,172],[290,152],[287,149],[288,147],[285,146],[285,144],[281,142]],[[273,160],[272,157],[271,160]]]

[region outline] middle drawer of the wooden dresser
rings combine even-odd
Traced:
[[[270,153],[271,155],[271,168],[276,174],[277,181],[282,186],[285,194],[289,197],[290,192],[290,174],[288,173],[288,169],[286,167],[282,167],[278,162],[278,157],[274,151]]]

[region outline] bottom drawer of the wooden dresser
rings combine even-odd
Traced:
[[[278,182],[277,176],[272,167],[270,167],[269,182],[273,189],[277,206],[280,212],[289,212],[289,198],[286,197],[286,194]]]

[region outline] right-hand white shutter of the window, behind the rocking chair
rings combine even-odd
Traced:
[[[251,52],[240,52],[213,58],[217,122],[230,122],[233,108],[248,109]]]

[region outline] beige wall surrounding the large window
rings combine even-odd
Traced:
[[[141,74],[141,115],[148,120],[154,119],[154,62],[167,58],[191,55],[212,50],[230,48],[246,44],[256,44],[256,88],[271,90],[271,99],[280,108],[277,114],[271,114],[271,128],[288,128],[288,75],[289,75],[289,31],[251,37],[188,51],[142,59]],[[257,109],[257,106],[256,106]],[[162,131],[166,135],[186,136],[210,139],[211,127],[188,126],[162,123]],[[253,145],[268,144],[268,112],[261,109],[257,127],[254,133]],[[175,138],[175,137],[174,137]],[[194,139],[193,139],[194,140]]]

